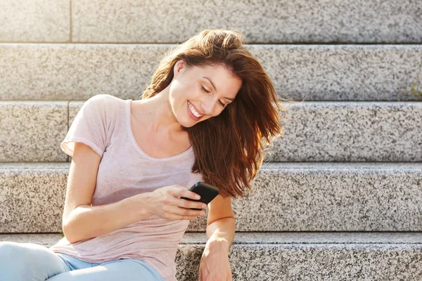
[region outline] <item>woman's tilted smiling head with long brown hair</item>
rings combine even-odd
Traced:
[[[277,96],[245,41],[236,30],[203,30],[167,51],[143,92],[143,99],[168,96],[193,145],[192,171],[223,197],[250,189],[265,148],[283,132],[279,102],[291,101]]]

